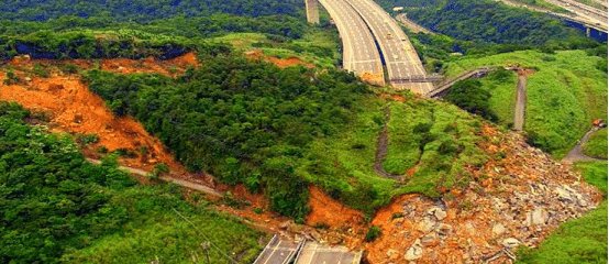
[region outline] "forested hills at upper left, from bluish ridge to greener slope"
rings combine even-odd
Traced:
[[[199,50],[202,38],[231,32],[295,40],[302,37],[307,28],[300,18],[301,3],[296,2],[2,2],[0,59],[18,54],[34,58],[171,58]]]

